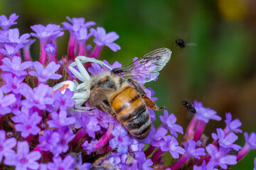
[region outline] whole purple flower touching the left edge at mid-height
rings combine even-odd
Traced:
[[[14,94],[19,94],[19,90],[23,88],[24,83],[21,83],[25,76],[21,77],[12,77],[12,74],[6,72],[1,74],[2,79],[6,82],[1,88],[5,94],[8,94],[10,91],[13,91]]]

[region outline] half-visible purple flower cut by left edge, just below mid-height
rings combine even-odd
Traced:
[[[0,115],[5,115],[11,112],[10,106],[16,101],[14,94],[4,96],[2,89],[0,88]]]

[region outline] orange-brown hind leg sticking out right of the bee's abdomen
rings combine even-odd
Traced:
[[[154,103],[154,101],[151,101],[151,99],[146,96],[146,92],[144,91],[144,89],[142,89],[142,86],[140,86],[137,83],[137,81],[134,81],[133,79],[128,79],[128,81],[132,83],[132,85],[134,86],[134,89],[138,91],[139,94],[142,96],[142,98],[144,99],[144,102],[146,103],[146,107],[151,108],[155,111],[161,111],[162,109],[164,109],[164,107],[158,108]]]

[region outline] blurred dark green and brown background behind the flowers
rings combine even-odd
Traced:
[[[122,49],[112,52],[104,47],[100,54],[100,60],[110,63],[118,60],[125,66],[132,62],[132,57],[169,47],[173,51],[171,61],[158,81],[146,84],[156,92],[159,106],[174,113],[184,130],[191,115],[181,101],[197,100],[218,111],[223,119],[227,112],[240,118],[243,131],[256,131],[255,0],[1,0],[0,14],[11,13],[20,16],[15,27],[21,33],[31,33],[30,26],[38,23],[61,24],[66,21],[65,16],[85,17],[107,32],[117,32],[116,42]],[[68,36],[65,32],[58,38],[60,57],[67,53]],[[196,45],[181,49],[175,44],[177,38]],[[38,41],[31,50],[33,57],[38,58]],[[162,114],[157,112],[156,117]],[[206,134],[224,126],[224,121],[210,121]],[[238,144],[244,144],[242,134]],[[255,151],[232,169],[253,169],[253,157]]]

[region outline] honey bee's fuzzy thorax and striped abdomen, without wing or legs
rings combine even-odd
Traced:
[[[138,92],[142,89],[137,88],[117,74],[103,72],[92,77],[87,102],[100,111],[110,113],[130,135],[142,139],[151,130],[151,120],[142,94]]]

